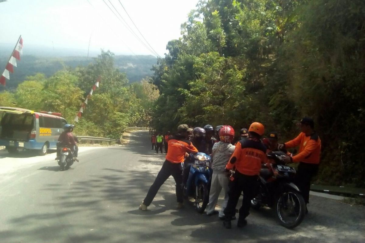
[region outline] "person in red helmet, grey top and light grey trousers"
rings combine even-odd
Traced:
[[[219,131],[220,141],[216,142],[212,149],[212,169],[213,175],[211,180],[211,188],[209,193],[209,204],[207,206],[207,215],[215,215],[219,213],[219,218],[224,219],[224,209],[228,202],[228,182],[225,167],[231,158],[235,146],[231,144],[234,139],[234,129],[231,126],[225,125]],[[215,206],[218,201],[220,191],[224,192],[224,203],[222,209],[215,211]]]

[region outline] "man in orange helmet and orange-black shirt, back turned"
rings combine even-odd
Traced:
[[[247,224],[246,217],[250,214],[251,200],[257,194],[261,164],[266,161],[266,147],[260,138],[264,134],[265,128],[259,122],[254,122],[249,128],[249,137],[237,142],[236,148],[226,166],[229,171],[235,166],[233,181],[230,182],[228,192],[228,203],[224,209],[223,225],[230,229],[231,220],[236,214],[236,206],[243,191],[242,207],[239,209],[238,227]]]

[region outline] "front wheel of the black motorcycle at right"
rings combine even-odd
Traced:
[[[288,190],[278,196],[275,211],[279,223],[285,228],[295,228],[306,215],[306,203],[300,192]]]

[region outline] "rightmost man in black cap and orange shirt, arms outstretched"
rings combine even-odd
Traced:
[[[312,177],[318,172],[320,161],[321,141],[314,130],[314,121],[304,117],[300,121],[301,133],[285,144],[279,144],[279,149],[288,149],[299,146],[299,152],[293,157],[285,157],[286,163],[299,163],[295,184],[300,189],[306,204],[309,203],[309,191]],[[308,210],[306,209],[306,213]]]

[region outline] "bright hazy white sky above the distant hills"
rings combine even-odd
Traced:
[[[109,3],[111,1],[139,35],[118,0],[104,1],[114,10]],[[198,0],[120,2],[143,36],[162,56],[166,52],[167,42],[180,37],[180,25],[187,20],[188,13],[195,8]],[[0,44],[15,44],[21,34],[24,55],[27,45],[55,50],[82,49],[87,55],[90,36],[91,51],[104,48],[115,54],[151,54],[123,26],[103,0],[8,0],[0,3],[0,23]]]

